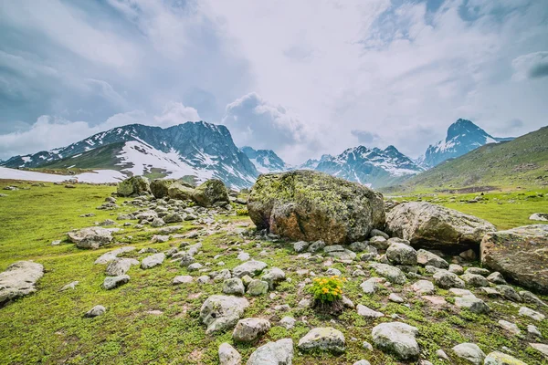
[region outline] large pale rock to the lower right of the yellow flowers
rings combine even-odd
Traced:
[[[418,358],[417,334],[417,328],[401,322],[382,323],[372,331],[374,345],[401,360]]]

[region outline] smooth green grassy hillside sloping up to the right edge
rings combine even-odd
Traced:
[[[481,186],[548,186],[548,127],[490,143],[409,179],[392,191]]]

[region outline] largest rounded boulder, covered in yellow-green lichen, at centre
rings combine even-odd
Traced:
[[[248,212],[258,229],[328,245],[364,241],[385,224],[381,193],[313,171],[260,175],[249,193]]]

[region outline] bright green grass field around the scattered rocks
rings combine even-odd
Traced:
[[[0,189],[10,183],[13,182],[0,181]],[[94,265],[93,262],[116,245],[99,250],[81,250],[65,241],[66,233],[71,229],[90,226],[107,218],[115,219],[117,214],[133,210],[128,207],[121,207],[114,212],[96,210],[105,197],[115,191],[114,187],[78,185],[76,189],[66,189],[62,185],[49,183],[47,187],[35,187],[29,183],[17,185],[24,189],[15,192],[0,190],[8,194],[7,197],[0,198],[0,271],[18,260],[35,260],[45,266],[46,273],[38,281],[37,293],[0,308],[0,364],[218,363],[218,346],[225,341],[232,343],[231,332],[206,336],[205,326],[200,323],[198,314],[206,297],[221,292],[222,283],[199,285],[193,282],[173,286],[174,276],[203,274],[188,273],[185,268],[166,259],[162,266],[149,270],[133,266],[128,272],[131,276],[130,283],[107,291],[101,288],[105,266]],[[443,204],[466,213],[478,214],[500,228],[532,223],[527,221],[527,214],[546,211],[545,197],[528,199],[526,195],[519,195],[512,198],[519,203],[509,203],[507,199],[501,205],[494,202],[494,197],[489,195],[489,203],[485,204]],[[123,199],[119,199],[119,203],[122,201]],[[90,218],[79,217],[79,214],[88,213],[97,215]],[[273,327],[258,343],[235,344],[244,363],[253,350],[269,340],[290,337],[296,345],[310,328],[331,326],[344,333],[347,341],[346,353],[338,357],[325,353],[301,354],[295,348],[293,363],[353,364],[354,361],[366,359],[373,365],[395,365],[400,362],[382,351],[369,351],[362,347],[364,340],[372,342],[371,328],[378,323],[391,321],[390,316],[393,314],[419,328],[417,340],[422,351],[421,358],[437,365],[448,363],[437,360],[437,349],[448,352],[452,346],[464,341],[478,343],[486,353],[506,346],[513,351],[514,356],[530,365],[545,363],[539,353],[529,348],[526,342],[501,333],[496,324],[499,318],[507,318],[524,329],[529,321],[517,315],[519,306],[512,307],[492,301],[490,306],[493,312],[489,316],[459,312],[451,306],[436,309],[397,285],[393,285],[390,290],[406,297],[409,308],[389,302],[388,288],[381,289],[373,296],[363,296],[359,287],[363,278],[351,276],[355,265],[363,264],[360,262],[346,266],[337,263],[333,267],[339,268],[344,276],[350,277],[344,288],[347,297],[355,304],[381,310],[385,313],[385,318],[367,320],[358,316],[355,310],[346,310],[340,318],[330,318],[320,316],[311,309],[298,308],[297,304],[304,294],[297,285],[306,276],[299,276],[296,271],[306,268],[321,275],[327,267],[321,262],[296,259],[289,244],[243,239],[237,235],[235,229],[248,224],[250,220],[247,216],[229,217],[228,223],[223,224],[228,227],[227,231],[205,236],[203,252],[196,255],[198,262],[211,263],[207,267],[212,270],[230,269],[239,264],[236,256],[237,248],[241,248],[269,266],[280,267],[290,278],[290,281],[277,287],[276,297],[248,297],[250,307],[246,310],[245,317],[269,318]],[[186,222],[179,233],[201,228]],[[123,227],[123,231],[115,237],[121,243],[131,243],[137,248],[154,247],[159,251],[171,245],[178,246],[181,241],[151,244],[152,235],[152,229]],[[64,241],[61,245],[50,245],[52,241],[59,239]],[[186,241],[195,243],[196,240]],[[261,255],[263,251],[265,255]],[[222,257],[214,259],[216,255]],[[145,255],[139,255],[135,250],[127,256],[142,258]],[[225,266],[217,265],[221,260],[225,262]],[[368,269],[365,268],[365,271]],[[370,274],[375,275],[374,272]],[[61,287],[74,280],[79,281],[75,290],[59,292]],[[447,291],[437,289],[437,295],[447,294]],[[99,304],[107,308],[105,315],[98,318],[82,317],[86,311]],[[289,304],[290,309],[276,312],[273,308],[279,304]],[[153,310],[163,313],[149,313]],[[288,330],[277,326],[279,319],[284,316],[298,319],[296,327]],[[543,321],[536,325],[544,338],[548,338],[548,322]],[[452,363],[463,364],[458,360],[453,360]]]

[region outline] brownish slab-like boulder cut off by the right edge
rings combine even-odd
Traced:
[[[490,233],[480,248],[483,266],[522,287],[548,293],[548,224]]]

